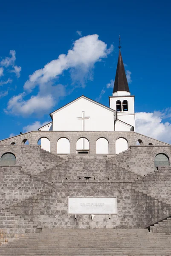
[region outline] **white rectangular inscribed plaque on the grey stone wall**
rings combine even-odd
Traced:
[[[69,214],[116,214],[116,198],[69,198]]]

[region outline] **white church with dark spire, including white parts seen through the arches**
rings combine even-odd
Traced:
[[[50,113],[52,122],[39,128],[39,131],[134,131],[134,96],[130,95],[125,68],[119,49],[119,58],[113,94],[109,97],[110,107],[101,105],[85,96],[80,96],[62,108]],[[128,142],[120,138],[116,153],[128,149]],[[49,140],[41,139],[41,147],[50,151]],[[57,142],[58,154],[70,154],[70,142],[60,138]],[[89,153],[89,141],[80,138],[76,143],[77,154]],[[108,141],[101,137],[96,142],[96,154],[109,154]]]

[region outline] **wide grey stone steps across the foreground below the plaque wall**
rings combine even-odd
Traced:
[[[1,256],[170,256],[171,235],[147,229],[44,229],[0,247]]]

